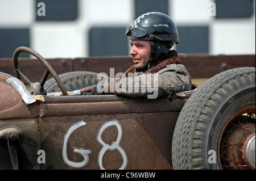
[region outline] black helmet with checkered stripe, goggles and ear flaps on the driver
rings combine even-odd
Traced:
[[[172,45],[179,43],[179,35],[174,21],[161,12],[147,12],[139,16],[133,26],[126,28],[130,40],[149,40],[151,54],[148,63],[138,71],[146,71],[168,56]]]

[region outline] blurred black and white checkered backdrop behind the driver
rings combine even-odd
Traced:
[[[0,0],[0,58],[126,56],[126,26],[151,11],[176,23],[178,53],[255,54],[255,0]]]

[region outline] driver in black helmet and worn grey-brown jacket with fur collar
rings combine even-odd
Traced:
[[[160,12],[139,16],[126,29],[134,65],[121,78],[85,89],[81,95],[115,94],[158,98],[192,89],[191,77],[176,50],[179,35],[173,20]]]

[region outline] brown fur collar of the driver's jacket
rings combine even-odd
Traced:
[[[153,68],[146,70],[145,74],[156,73],[157,71],[165,68],[167,65],[170,65],[170,64],[181,64],[179,55],[177,54],[176,50],[170,50],[166,60],[163,60]],[[134,73],[134,65],[132,65],[128,70],[126,70],[125,72],[126,77],[128,77],[128,73]]]

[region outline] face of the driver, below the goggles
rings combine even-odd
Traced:
[[[136,69],[143,68],[150,58],[150,42],[147,40],[131,40],[130,55]]]

